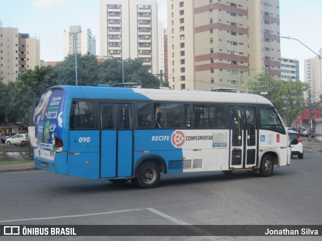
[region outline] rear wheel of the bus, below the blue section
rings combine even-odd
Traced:
[[[131,181],[141,188],[154,188],[160,181],[160,169],[153,162],[145,162],[139,167],[137,177]]]

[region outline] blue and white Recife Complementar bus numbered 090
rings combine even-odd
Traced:
[[[281,117],[254,94],[54,86],[33,122],[35,167],[142,188],[155,187],[160,173],[267,177],[291,159]]]

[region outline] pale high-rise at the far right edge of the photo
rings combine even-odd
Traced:
[[[319,51],[322,55],[322,49]],[[319,101],[322,94],[322,60],[316,56],[314,58],[304,59],[304,82],[310,85],[311,102]]]

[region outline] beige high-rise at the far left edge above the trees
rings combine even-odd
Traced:
[[[0,28],[0,77],[5,84],[40,65],[39,36],[19,33],[18,28]]]

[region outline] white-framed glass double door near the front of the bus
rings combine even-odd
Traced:
[[[230,168],[256,166],[257,126],[253,107],[230,107]]]

